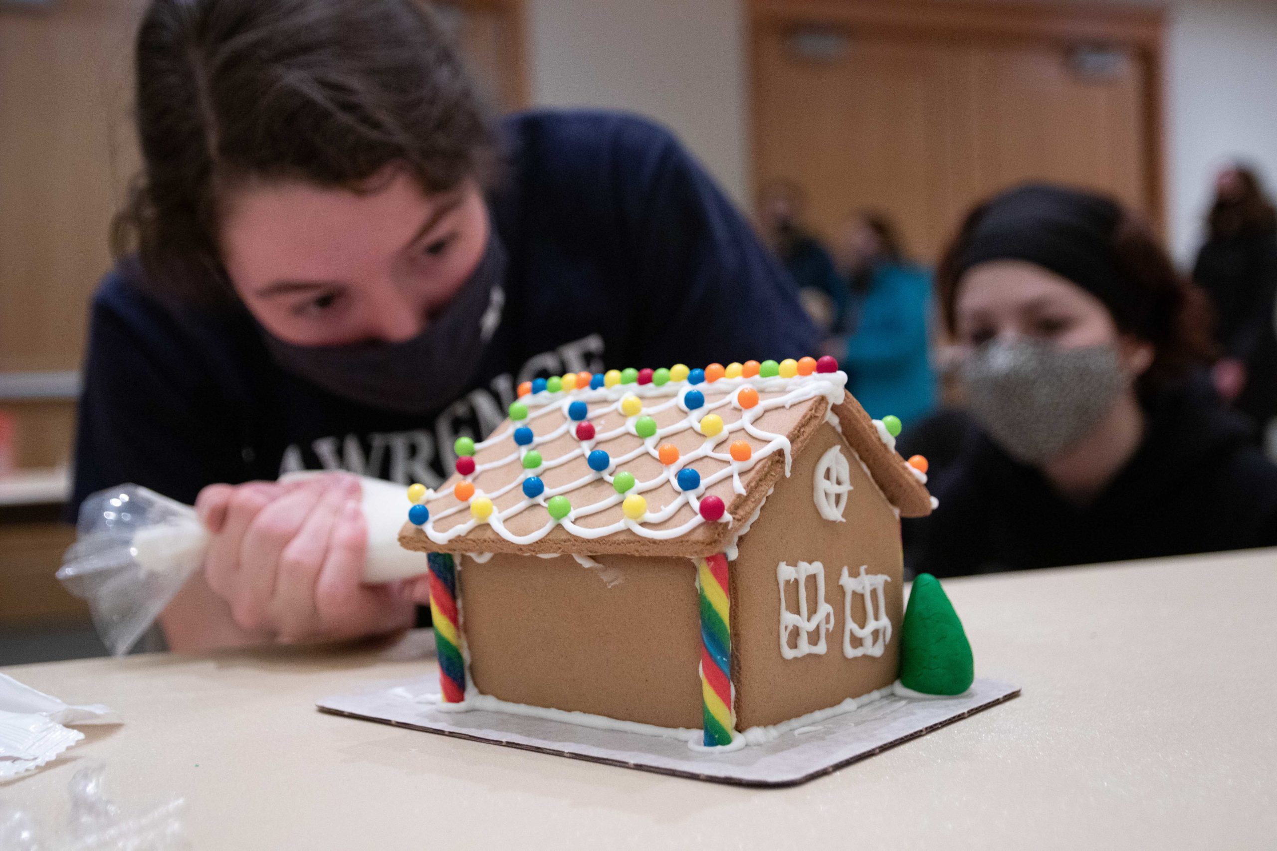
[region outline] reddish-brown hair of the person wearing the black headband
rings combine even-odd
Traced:
[[[940,310],[950,334],[954,333],[958,288],[964,272],[963,255],[992,200],[983,202],[967,216],[936,268]],[[1106,200],[1116,205],[1116,202]],[[1129,299],[1147,304],[1148,309],[1122,310],[1115,304],[1122,297],[1121,291],[1088,292],[1105,302],[1119,330],[1153,346],[1153,364],[1139,381],[1143,392],[1184,376],[1193,366],[1216,355],[1211,341],[1214,318],[1205,293],[1176,270],[1148,225],[1129,209],[1120,205],[1117,209],[1107,239],[1110,259],[1120,273],[1122,286],[1129,287]]]

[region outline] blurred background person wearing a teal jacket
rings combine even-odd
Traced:
[[[854,214],[842,231],[839,262],[850,288],[856,327],[834,352],[849,389],[871,416],[905,425],[936,406],[931,360],[931,273],[904,253],[885,213]]]

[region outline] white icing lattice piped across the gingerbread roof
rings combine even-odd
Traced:
[[[640,537],[653,538],[653,540],[668,540],[668,538],[682,537],[683,535],[687,535],[701,523],[707,522],[700,514],[700,498],[705,494],[707,487],[730,477],[733,491],[737,494],[744,494],[746,490],[744,490],[744,484],[741,480],[741,473],[752,470],[755,464],[757,464],[760,461],[769,458],[773,453],[778,450],[784,453],[785,476],[789,475],[790,466],[793,463],[790,452],[792,447],[789,439],[785,435],[773,434],[770,431],[765,431],[761,427],[759,427],[756,422],[764,413],[780,407],[788,408],[794,404],[798,404],[799,402],[806,402],[816,397],[825,397],[829,401],[830,406],[838,404],[843,401],[845,396],[844,390],[845,384],[847,384],[845,373],[817,373],[801,378],[759,378],[759,376],[753,376],[750,379],[724,378],[714,383],[714,389],[724,390],[725,396],[722,396],[713,401],[706,398],[704,403],[697,408],[690,408],[686,403],[684,397],[687,396],[687,393],[692,390],[700,393],[707,385],[691,385],[686,383],[664,384],[660,387],[656,387],[654,384],[644,384],[644,385],[618,384],[610,388],[605,387],[598,389],[573,390],[573,392],[549,393],[548,390],[543,390],[540,393],[526,396],[521,401],[527,406],[529,413],[526,420],[522,421],[520,425],[530,424],[533,420],[543,417],[547,413],[554,411],[559,411],[563,415],[564,417],[563,422],[545,434],[534,436],[531,444],[521,445],[516,452],[510,453],[508,455],[504,455],[495,461],[489,461],[481,464],[476,464],[475,475],[488,470],[495,470],[498,467],[503,467],[517,459],[520,462],[520,475],[513,481],[498,487],[492,492],[485,494],[481,491],[476,491],[472,495],[471,501],[480,498],[489,500],[499,499],[506,494],[513,491],[516,487],[521,487],[524,480],[526,480],[529,476],[539,477],[543,476],[545,471],[561,467],[572,461],[573,458],[587,457],[590,452],[594,449],[595,444],[598,443],[608,441],[623,434],[631,434],[637,436],[638,433],[636,424],[641,417],[650,417],[651,415],[673,410],[674,407],[677,407],[677,410],[681,411],[684,416],[668,426],[658,427],[655,434],[644,438],[642,445],[633,449],[632,452],[610,458],[609,459],[610,463],[607,470],[601,471],[591,470],[590,475],[582,476],[576,481],[564,485],[558,485],[555,487],[544,487],[543,491],[536,498],[522,499],[499,512],[492,512],[490,514],[483,518],[471,518],[470,521],[465,523],[458,523],[457,526],[447,531],[437,529],[435,522],[458,514],[464,510],[467,510],[469,505],[466,503],[460,503],[451,508],[446,508],[442,510],[433,510],[430,513],[429,519],[425,522],[421,529],[425,532],[427,537],[430,538],[430,541],[439,545],[448,544],[453,538],[466,535],[467,532],[480,526],[481,523],[489,524],[497,535],[499,535],[506,541],[516,545],[527,545],[539,541],[547,535],[549,535],[549,532],[555,526],[562,526],[568,533],[585,540],[600,538],[608,535],[622,532],[624,529],[630,529],[631,532],[638,535]],[[737,390],[742,387],[752,387],[757,389],[760,393],[779,393],[779,396],[762,399],[756,404],[753,404],[752,407],[743,408],[737,398]],[[644,407],[644,410],[638,413],[627,415],[624,411],[622,411],[622,404],[624,402],[624,398],[628,396],[635,396],[638,397],[640,399],[644,398],[659,399],[664,397],[668,398],[665,398],[665,401],[663,402],[653,404],[651,407]],[[582,401],[587,403],[589,402],[603,403],[594,407],[594,410],[589,412],[587,420],[599,420],[609,413],[621,413],[624,416],[624,422],[621,426],[608,431],[596,431],[594,436],[587,440],[578,440],[580,445],[575,450],[567,452],[550,461],[543,461],[540,464],[536,464],[531,468],[522,467],[522,462],[527,457],[527,453],[533,452],[538,445],[549,443],[568,434],[568,430],[575,425],[571,417],[568,416],[568,406],[576,401]],[[619,471],[622,464],[630,463],[644,454],[659,461],[660,455],[658,448],[660,441],[668,439],[670,435],[688,430],[696,434],[704,434],[700,426],[701,418],[718,408],[724,408],[725,406],[734,406],[737,410],[739,410],[741,412],[739,418],[736,420],[734,422],[724,424],[722,431],[719,431],[715,435],[705,435],[705,440],[700,447],[679,457],[679,459],[676,463],[663,464],[660,475],[655,476],[654,478],[650,478],[647,481],[635,482],[635,485],[628,491],[626,491],[626,494],[613,492],[603,498],[601,500],[589,505],[573,505],[572,509],[568,512],[567,517],[562,518],[561,521],[554,521],[552,518],[548,518],[548,522],[544,526],[541,526],[538,529],[534,529],[527,535],[515,535],[506,527],[504,524],[506,519],[520,514],[521,512],[531,508],[533,505],[540,505],[543,508],[548,508],[549,499],[553,496],[576,491],[589,485],[590,482],[600,480],[608,484],[613,484],[614,481],[613,473]],[[498,431],[497,434],[493,434],[487,440],[476,443],[475,449],[478,450],[495,445],[498,441],[511,436],[516,427],[520,426],[515,424],[507,424],[507,426],[501,431]],[[716,448],[720,444],[730,441],[733,433],[739,433],[739,431],[743,431],[751,438],[762,441],[765,445],[761,447],[760,449],[753,450],[750,458],[744,461],[737,461],[727,452],[716,452]],[[705,476],[697,487],[688,491],[683,491],[677,486],[678,472],[682,468],[687,467],[687,464],[701,458],[713,458],[715,461],[724,462],[725,466],[722,470],[718,470],[714,473]],[[669,504],[664,505],[659,510],[646,512],[637,518],[626,517],[616,523],[600,527],[585,527],[577,522],[584,517],[589,517],[591,514],[596,514],[614,505],[619,505],[626,499],[626,496],[638,495],[645,491],[650,491],[655,487],[660,487],[661,485],[665,484],[673,486],[673,489],[678,492],[678,495],[676,496],[674,500],[672,500]],[[430,492],[428,496],[433,495],[434,494]],[[647,526],[647,524],[659,524],[669,521],[678,513],[678,510],[683,505],[688,505],[695,512],[693,517],[688,519],[686,523],[682,523],[681,526],[668,529],[655,529]],[[720,519],[714,522],[730,523],[732,518],[729,514],[724,514]]]

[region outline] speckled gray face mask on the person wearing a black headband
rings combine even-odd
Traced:
[[[962,365],[967,407],[1009,455],[1038,464],[1084,438],[1126,385],[1110,346],[981,346]]]

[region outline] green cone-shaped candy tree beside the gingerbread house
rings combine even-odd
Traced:
[[[940,581],[913,581],[900,628],[900,684],[922,694],[962,694],[976,681],[976,662],[962,620]]]

